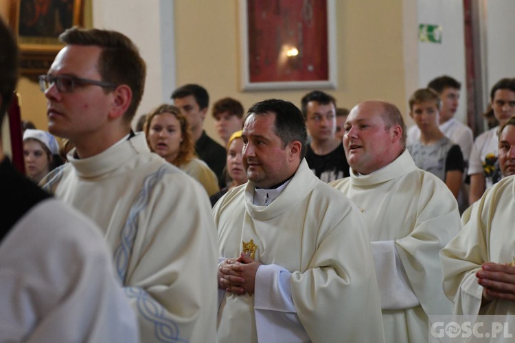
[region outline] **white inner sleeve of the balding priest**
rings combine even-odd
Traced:
[[[419,301],[395,247],[395,241],[370,242],[381,299],[381,309],[408,309]]]

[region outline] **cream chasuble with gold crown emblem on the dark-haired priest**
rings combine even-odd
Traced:
[[[258,342],[258,336],[268,342],[383,342],[374,261],[356,206],[304,160],[268,206],[253,204],[254,188],[249,181],[231,189],[214,206],[220,256],[238,257],[243,244],[252,250],[252,242],[257,261],[291,273],[294,306],[271,301],[255,309],[257,298],[281,298],[278,287],[258,280],[262,266],[255,294],[222,299],[218,342]]]

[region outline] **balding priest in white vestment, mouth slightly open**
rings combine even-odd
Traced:
[[[350,178],[330,185],[365,217],[376,263],[387,342],[427,342],[428,316],[451,314],[438,252],[459,232],[457,202],[405,148],[404,120],[386,102],[356,105],[343,145]]]

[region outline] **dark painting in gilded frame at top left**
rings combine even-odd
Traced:
[[[58,36],[83,25],[82,0],[11,0],[10,23],[18,39],[20,73],[36,80],[63,47]]]

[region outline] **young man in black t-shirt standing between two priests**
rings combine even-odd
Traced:
[[[336,100],[322,91],[312,91],[301,100],[301,109],[311,137],[306,161],[323,182],[349,176],[343,143],[336,139]]]

